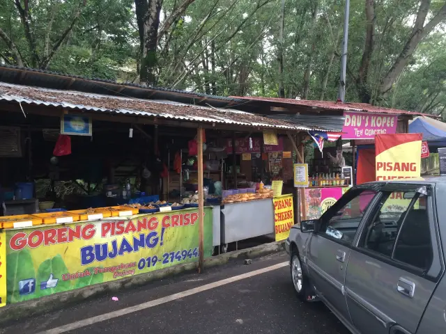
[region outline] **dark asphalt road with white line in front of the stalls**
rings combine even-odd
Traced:
[[[249,265],[232,262],[200,276],[189,273],[116,293],[119,301],[104,296],[17,321],[0,333],[348,334],[321,303],[298,301],[288,260],[279,254]]]

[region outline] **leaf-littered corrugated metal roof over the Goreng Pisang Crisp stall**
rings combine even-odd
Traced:
[[[136,99],[77,92],[54,90],[0,82],[0,101],[36,104],[80,111],[131,114],[132,116],[157,117],[190,122],[225,123],[242,127],[260,127],[308,131],[325,131],[322,127],[307,127],[283,120],[272,120],[263,116],[233,109],[218,109],[170,101]],[[26,108],[25,108],[26,111]],[[57,111],[59,114],[60,111]]]

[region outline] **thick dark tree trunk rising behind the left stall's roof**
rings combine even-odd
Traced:
[[[162,0],[134,0],[139,31],[141,82],[155,86],[155,70],[157,66],[157,39],[160,26]]]

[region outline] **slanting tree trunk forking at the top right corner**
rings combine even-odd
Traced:
[[[424,26],[426,20],[426,15],[429,13],[429,8],[431,6],[431,0],[422,0],[420,8],[418,9],[417,19],[415,20],[415,25],[413,26],[412,33],[403,47],[403,51],[394,61],[392,67],[385,75],[382,84],[380,85],[380,94],[385,95],[392,89],[392,85],[395,80],[403,72],[406,65],[409,63],[410,58],[412,58],[413,52],[417,49],[418,45],[426,35],[446,19],[446,1],[443,7],[438,11],[438,13],[429,21],[428,24]]]

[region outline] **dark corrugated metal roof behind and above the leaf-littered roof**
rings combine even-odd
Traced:
[[[232,97],[208,95],[188,92],[173,88],[151,87],[132,82],[119,83],[112,80],[87,78],[79,75],[36,70],[29,67],[0,65],[0,81],[8,84],[38,86],[61,90],[77,90],[85,93],[104,95],[130,96],[148,99],[166,99],[190,104],[211,103],[214,106],[227,106],[228,104],[245,103],[243,100]]]

